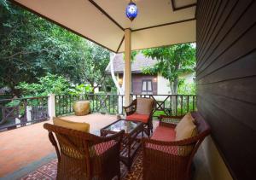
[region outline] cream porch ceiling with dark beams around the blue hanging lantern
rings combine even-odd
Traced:
[[[131,49],[195,42],[195,0],[134,0],[138,15],[125,16],[130,0],[14,0],[96,44],[123,52],[124,30],[131,29]]]

